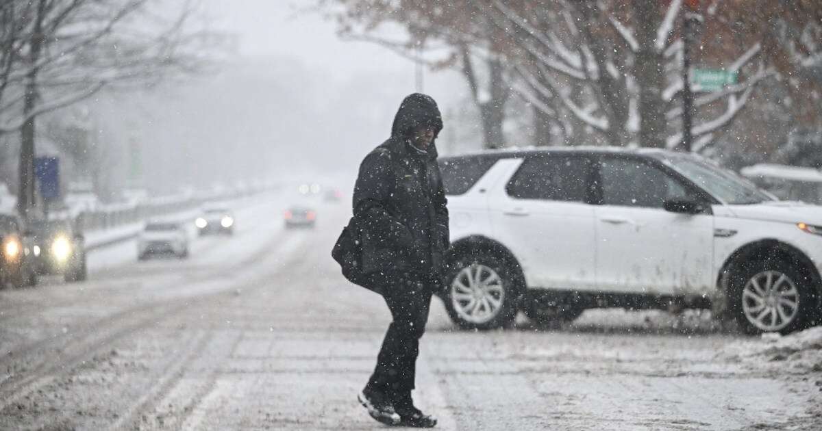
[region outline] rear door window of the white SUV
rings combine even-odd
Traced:
[[[590,161],[581,156],[531,156],[508,182],[506,192],[517,199],[586,202]]]

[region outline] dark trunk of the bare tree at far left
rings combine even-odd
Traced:
[[[39,61],[40,51],[43,48],[43,20],[46,13],[46,0],[40,0],[37,7],[34,34],[31,35],[28,62],[31,70],[25,77],[25,99],[23,102],[23,118],[25,123],[20,130],[20,182],[17,193],[17,212],[23,218],[29,218],[31,210],[35,208],[35,123],[36,116],[32,115],[37,108],[37,72],[35,66]]]

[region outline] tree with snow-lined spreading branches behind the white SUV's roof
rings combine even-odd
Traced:
[[[520,48],[509,57],[524,83],[515,88],[548,115],[570,112],[612,145],[673,148],[680,142],[669,125],[681,115],[682,42],[675,31],[681,0],[667,6],[645,0],[487,3],[486,13]],[[745,71],[740,74],[746,79],[695,100],[697,108],[725,106],[692,127],[696,150],[737,117],[755,85],[774,74],[757,61],[761,51],[759,40],[750,41],[723,65]]]

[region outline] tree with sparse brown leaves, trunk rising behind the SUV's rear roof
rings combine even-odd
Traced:
[[[464,77],[483,126],[485,148],[505,144],[502,125],[510,98],[510,68],[504,57],[504,31],[473,0],[317,0],[321,11],[339,24],[344,39],[390,48],[432,69],[454,68]],[[399,25],[406,39],[381,34],[381,26]],[[420,48],[425,53],[420,55]]]

